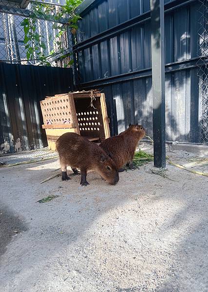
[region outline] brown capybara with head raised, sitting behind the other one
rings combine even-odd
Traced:
[[[136,147],[145,136],[145,129],[141,125],[129,125],[129,128],[121,132],[118,136],[110,137],[104,140],[100,147],[113,159],[119,171],[121,167],[127,164],[133,169],[132,160]]]

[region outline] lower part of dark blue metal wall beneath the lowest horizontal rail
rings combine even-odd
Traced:
[[[166,140],[199,142],[198,80],[196,70],[166,73]],[[97,88],[97,87],[96,87]],[[98,87],[106,96],[111,134],[129,123],[142,125],[153,137],[151,77]],[[116,111],[113,108],[116,102]],[[134,105],[133,105],[134,103]],[[135,120],[134,120],[135,119]]]

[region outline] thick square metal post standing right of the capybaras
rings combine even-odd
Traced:
[[[166,167],[164,0],[151,0],[154,166]]]

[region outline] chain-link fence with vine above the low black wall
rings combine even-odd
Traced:
[[[62,7],[57,2],[1,0],[0,62],[71,67],[73,28]]]

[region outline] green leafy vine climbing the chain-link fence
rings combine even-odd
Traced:
[[[76,7],[83,0],[66,0],[64,6],[61,6],[59,9],[52,4],[45,4],[44,1],[41,3],[33,3],[31,8],[31,15],[28,18],[24,18],[21,22],[24,30],[24,46],[26,50],[27,60],[38,60],[41,65],[51,66],[49,58],[52,56],[58,55],[58,58],[65,58],[71,56],[72,53],[65,53],[63,47],[62,36],[67,32],[67,28],[71,28],[72,33],[76,33],[77,21],[80,19],[76,15]],[[55,50],[51,50],[46,54],[47,47],[45,45],[45,39],[41,35],[41,32],[38,31],[38,19],[52,21],[51,17],[53,16],[53,25],[52,29],[55,32],[55,38],[53,40],[53,46]],[[61,24],[61,20],[65,20],[66,24]],[[49,36],[48,41],[52,40],[52,36]],[[37,57],[36,57],[37,56]],[[73,64],[73,60],[70,60],[65,66]]]

